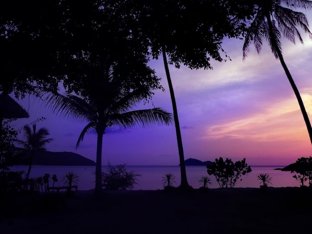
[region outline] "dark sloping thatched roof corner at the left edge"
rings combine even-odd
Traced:
[[[0,118],[28,118],[29,114],[8,94],[0,94]]]

